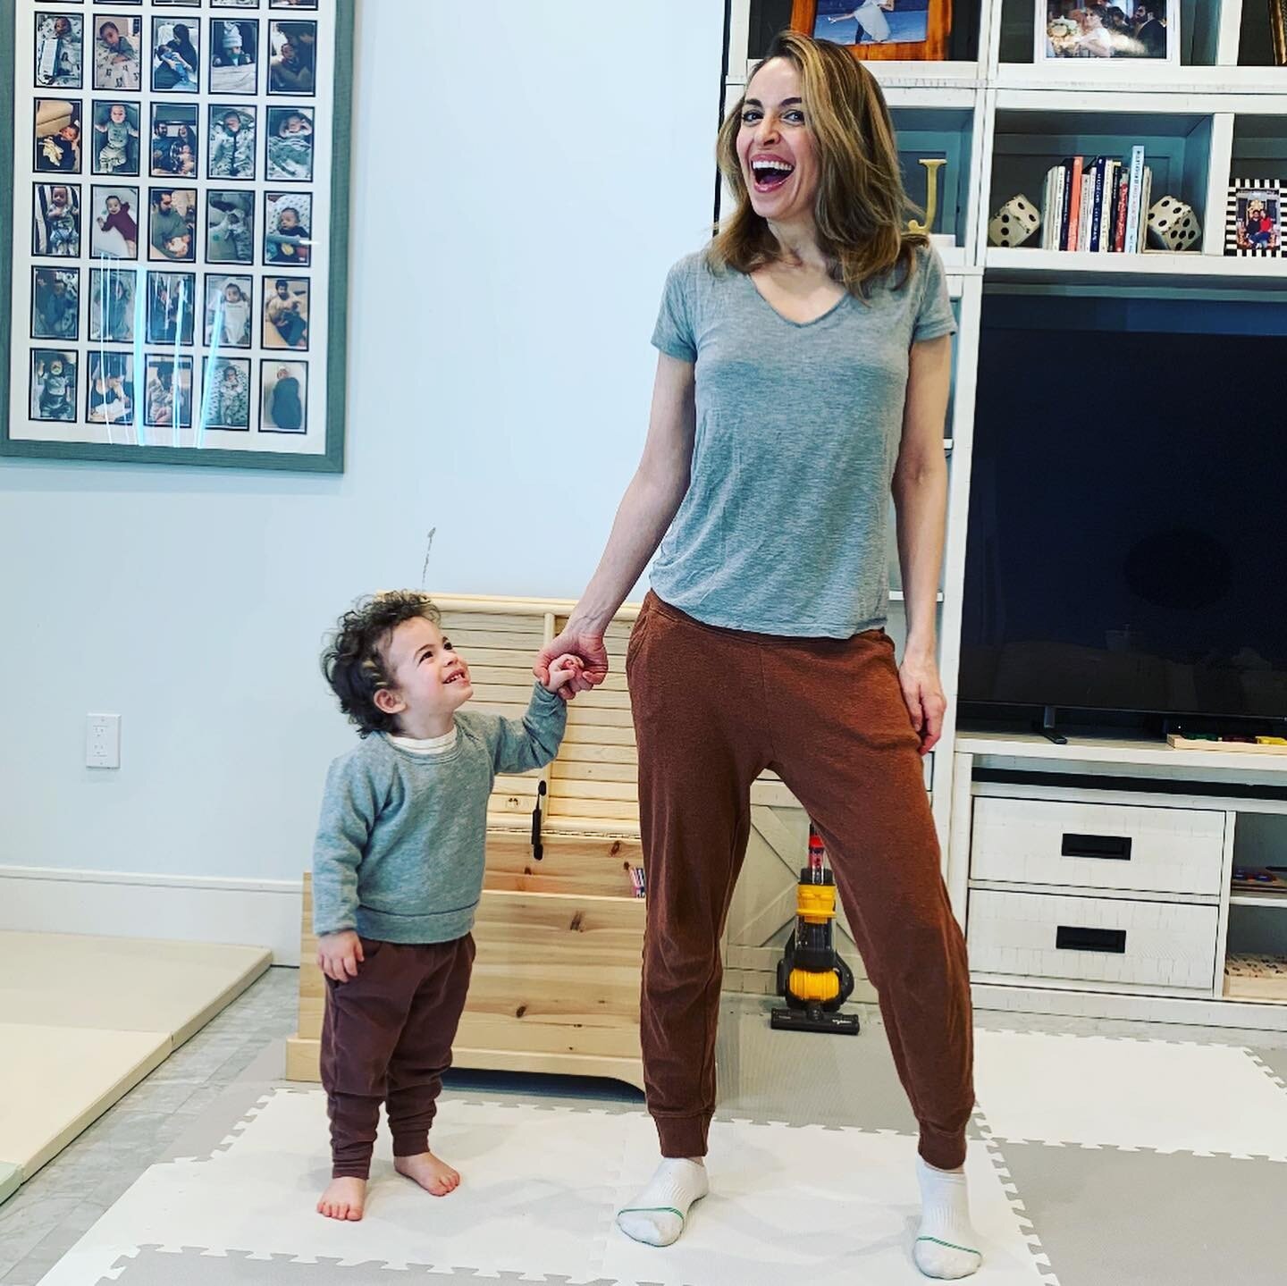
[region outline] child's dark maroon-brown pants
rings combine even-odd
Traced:
[[[470,935],[425,946],[363,938],[362,950],[355,978],[326,985],[322,1086],[335,1178],[367,1178],[381,1102],[394,1156],[429,1150],[474,964]]]

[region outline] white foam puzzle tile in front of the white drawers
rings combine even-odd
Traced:
[[[1287,1093],[1233,1045],[977,1031],[974,1083],[999,1141],[1287,1161]]]

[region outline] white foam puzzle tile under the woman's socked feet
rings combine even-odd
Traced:
[[[920,1214],[915,1156],[915,1138],[891,1132],[716,1121],[707,1157],[712,1192],[683,1236],[659,1250],[614,1228],[602,1274],[620,1286],[924,1282],[911,1259]],[[636,1117],[618,1205],[631,1202],[656,1162],[656,1132]],[[973,1280],[979,1286],[1050,1281],[986,1144],[969,1144],[965,1169],[986,1256]]]

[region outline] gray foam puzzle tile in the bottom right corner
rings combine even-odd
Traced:
[[[1283,1286],[1287,1165],[1006,1143],[1059,1286]]]

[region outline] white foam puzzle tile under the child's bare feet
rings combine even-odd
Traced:
[[[85,1235],[66,1272],[44,1286],[86,1286],[90,1265],[121,1247],[248,1251],[391,1267],[431,1264],[480,1273],[600,1276],[620,1175],[620,1117],[525,1104],[452,1103],[434,1148],[462,1174],[431,1197],[393,1170],[387,1135],[376,1146],[366,1216],[314,1209],[329,1179],[326,1097],[275,1093],[227,1151],[208,1161],[154,1165]]]

